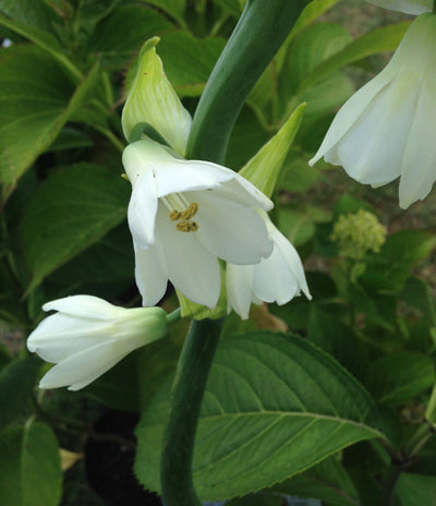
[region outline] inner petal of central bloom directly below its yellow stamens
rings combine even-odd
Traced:
[[[219,264],[216,255],[198,242],[197,233],[177,230],[175,222],[159,206],[156,241],[170,281],[187,299],[214,309],[221,290]]]

